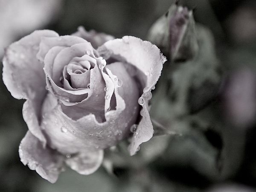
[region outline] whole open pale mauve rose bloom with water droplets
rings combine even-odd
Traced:
[[[66,165],[88,175],[130,129],[134,155],[153,135],[148,101],[165,61],[148,41],[81,27],[65,36],[35,31],[12,43],[3,81],[13,97],[26,99],[22,163],[52,183]]]

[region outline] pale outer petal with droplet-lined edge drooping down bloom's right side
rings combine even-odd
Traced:
[[[163,63],[166,61],[166,57],[160,53],[157,46],[132,36],[110,40],[100,46],[98,52],[105,59],[111,57],[121,60],[143,72],[145,78],[138,77],[143,86],[143,92],[150,92],[157,83],[163,69]],[[148,141],[153,136],[153,126],[147,109],[148,100],[143,100],[143,117],[135,133],[136,137],[132,138],[132,144],[129,147],[131,155],[136,153],[141,143]]]

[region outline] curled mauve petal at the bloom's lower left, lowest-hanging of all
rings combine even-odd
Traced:
[[[52,149],[44,148],[43,144],[31,132],[20,143],[20,160],[29,169],[35,170],[42,178],[55,183],[61,172],[64,158]]]

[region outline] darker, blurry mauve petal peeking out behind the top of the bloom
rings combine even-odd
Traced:
[[[94,30],[90,30],[87,32],[83,26],[79,26],[78,31],[73,33],[72,35],[82,37],[92,44],[92,46],[97,49],[99,46],[103,45],[103,43],[113,40],[114,37],[105,33],[97,33]]]

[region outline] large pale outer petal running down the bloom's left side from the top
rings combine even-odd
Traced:
[[[3,82],[12,96],[27,99],[23,105],[23,117],[29,130],[44,144],[46,139],[39,126],[41,103],[46,94],[43,63],[36,54],[41,37],[55,37],[50,30],[35,31],[19,41],[12,43],[3,58]]]

